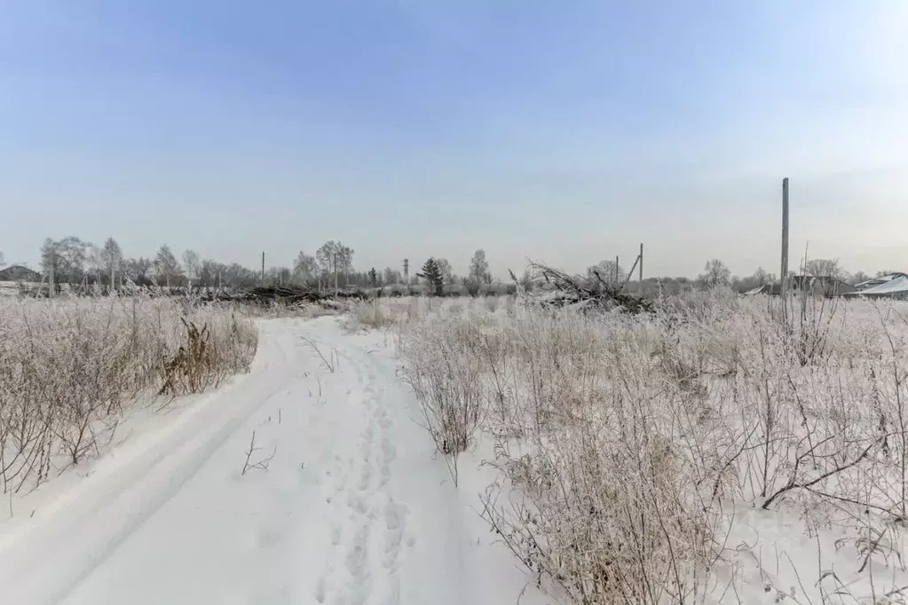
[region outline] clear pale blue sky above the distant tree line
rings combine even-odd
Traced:
[[[908,270],[904,0],[0,0],[0,250]],[[629,264],[629,262],[628,262]]]

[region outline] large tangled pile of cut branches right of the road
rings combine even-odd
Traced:
[[[557,268],[531,263],[533,281],[548,296],[539,298],[539,304],[548,307],[575,307],[585,310],[619,309],[627,313],[650,313],[653,304],[624,291],[624,283],[609,282],[593,271],[591,278],[571,277]]]

